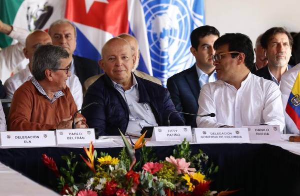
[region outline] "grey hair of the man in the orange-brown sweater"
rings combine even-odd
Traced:
[[[60,59],[68,58],[69,53],[61,46],[40,45],[36,48],[32,58],[32,75],[38,81],[45,78],[45,70],[56,71],[60,67]]]

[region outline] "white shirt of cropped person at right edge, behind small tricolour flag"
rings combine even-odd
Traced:
[[[281,99],[283,104],[283,111],[285,117],[285,125],[286,125],[286,133],[287,134],[299,134],[299,130],[296,127],[295,123],[291,120],[291,118],[286,114],[285,107],[286,103],[291,91],[291,88],[295,82],[295,79],[300,71],[300,63],[295,65],[293,68],[286,71],[280,80],[280,91],[281,91]]]

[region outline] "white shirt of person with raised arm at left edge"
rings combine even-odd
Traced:
[[[25,59],[23,48],[28,34],[29,31],[25,29],[13,27],[8,35],[16,39],[18,43],[2,48],[0,51],[0,80],[2,82],[4,82],[10,76],[10,73]],[[28,60],[26,61],[28,62]]]

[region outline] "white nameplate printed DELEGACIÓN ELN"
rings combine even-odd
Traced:
[[[54,131],[1,131],[1,146],[55,146]]]

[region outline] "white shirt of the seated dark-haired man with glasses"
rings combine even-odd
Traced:
[[[251,73],[238,90],[224,81],[207,83],[200,91],[198,114],[215,113],[215,117],[197,117],[197,127],[241,127],[246,125],[279,125],[284,115],[278,86]]]

